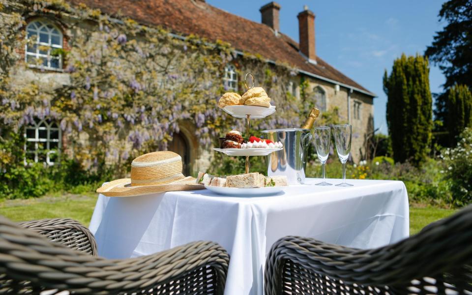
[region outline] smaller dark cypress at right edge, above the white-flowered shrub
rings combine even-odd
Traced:
[[[455,84],[447,90],[444,126],[451,146],[464,128],[472,126],[472,94],[466,85]]]

